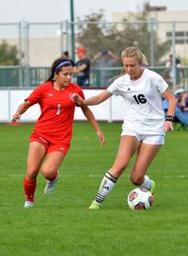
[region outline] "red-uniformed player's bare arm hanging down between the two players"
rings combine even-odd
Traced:
[[[94,116],[93,112],[90,111],[90,109],[85,105],[82,105],[81,109],[82,109],[84,115],[86,116],[86,119],[89,121],[89,123],[92,125],[92,127],[96,130],[97,135],[98,135],[99,140],[100,140],[100,144],[104,145],[105,138],[103,136],[102,130],[101,130],[98,122],[95,119],[95,116]]]

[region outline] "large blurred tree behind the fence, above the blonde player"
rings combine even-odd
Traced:
[[[77,19],[77,31],[76,42],[88,49],[88,57],[92,59],[102,49],[110,49],[119,56],[120,65],[120,53],[127,46],[138,46],[154,65],[161,64],[170,50],[170,42],[160,42],[157,23],[149,19],[149,3],[138,12],[129,12],[118,24],[107,23],[102,9],[99,13],[93,12],[84,20]]]

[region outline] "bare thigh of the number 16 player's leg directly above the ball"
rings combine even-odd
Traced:
[[[149,164],[155,158],[162,145],[150,145],[142,143],[138,149],[137,157],[133,164],[131,176],[144,177]]]

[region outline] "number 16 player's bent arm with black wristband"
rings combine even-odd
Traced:
[[[176,106],[177,106],[177,99],[175,98],[174,94],[167,88],[164,93],[163,97],[168,101],[168,109],[167,109],[167,115],[170,117],[174,117]],[[173,129],[173,123],[172,121],[168,121],[166,119],[165,124],[164,124],[164,131],[172,130]]]

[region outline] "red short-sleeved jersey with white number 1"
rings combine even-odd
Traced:
[[[70,94],[85,98],[82,89],[71,83],[63,91],[57,91],[51,81],[40,84],[25,101],[39,103],[40,116],[34,131],[54,144],[70,145],[75,102]]]

